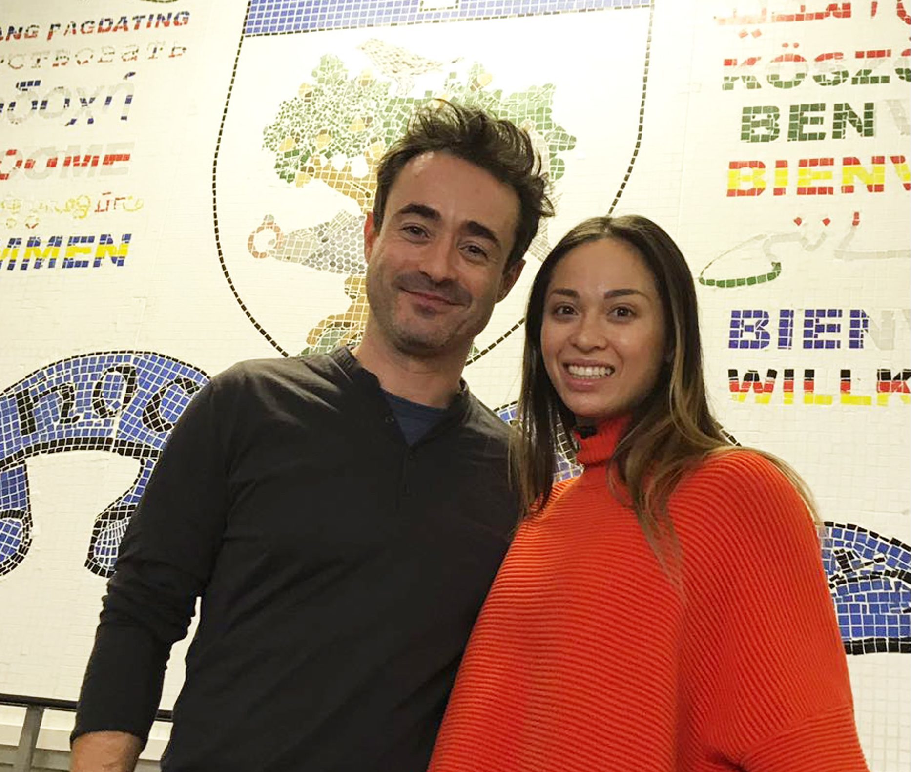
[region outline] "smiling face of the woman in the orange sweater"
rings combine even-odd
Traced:
[[[601,239],[558,262],[544,298],[541,354],[578,423],[625,413],[648,396],[665,340],[658,288],[634,247]]]

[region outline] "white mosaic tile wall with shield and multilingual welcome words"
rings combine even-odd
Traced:
[[[6,3],[0,691],[77,695],[119,538],[207,374],[362,335],[376,163],[445,97],[527,129],[558,207],[476,340],[473,390],[514,416],[523,302],[563,232],[659,221],[698,283],[723,425],[814,489],[865,752],[906,769],[909,9]]]

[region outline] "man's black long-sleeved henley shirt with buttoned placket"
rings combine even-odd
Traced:
[[[409,447],[347,349],[235,365],[128,526],[73,736],[148,736],[201,595],[164,770],[424,772],[516,516],[466,388]]]

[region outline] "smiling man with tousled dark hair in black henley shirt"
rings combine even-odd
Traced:
[[[108,583],[74,772],[130,770],[200,624],[162,767],[423,772],[517,516],[460,376],[551,214],[524,132],[419,113],[377,171],[353,351],[235,365],[180,418]]]

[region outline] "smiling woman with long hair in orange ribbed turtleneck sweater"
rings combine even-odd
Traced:
[[[529,514],[431,772],[866,772],[814,512],[711,417],[696,293],[642,217],[579,224],[527,309]],[[551,487],[561,431],[584,472]]]

